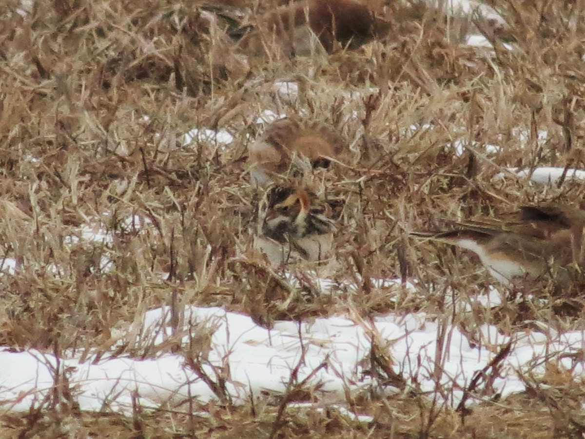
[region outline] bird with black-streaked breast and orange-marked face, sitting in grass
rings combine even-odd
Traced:
[[[312,204],[316,196],[304,188],[272,187],[266,216],[254,246],[272,265],[296,260],[320,261],[333,245],[335,224],[325,209]]]

